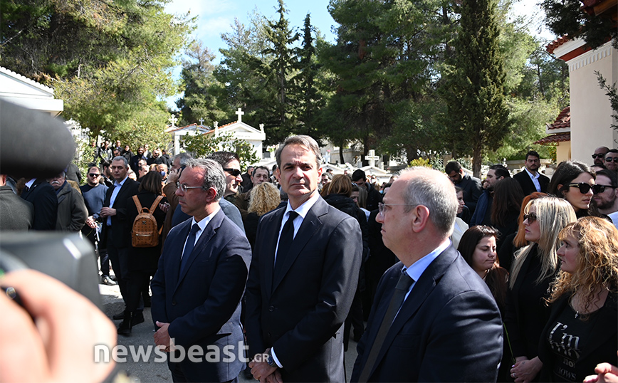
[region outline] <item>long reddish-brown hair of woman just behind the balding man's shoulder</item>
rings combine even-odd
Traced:
[[[517,181],[515,181],[517,182]],[[461,253],[461,256],[473,268],[473,255],[476,250],[476,245],[481,239],[486,237],[494,237],[498,239],[498,231],[491,226],[477,225],[472,226],[466,230],[459,240],[459,246],[457,250]],[[496,261],[489,269],[487,276],[485,277],[485,283],[487,284],[493,298],[496,299],[499,308],[503,308],[506,304],[506,282],[508,280],[508,271],[500,267],[500,261],[496,256]]]

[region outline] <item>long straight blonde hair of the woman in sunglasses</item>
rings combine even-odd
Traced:
[[[560,247],[558,235],[567,224],[577,221],[577,217],[575,216],[575,210],[573,210],[571,204],[565,199],[554,196],[546,196],[528,202],[528,205],[525,206],[526,214],[530,211],[530,206],[535,206],[536,208],[536,216],[538,217],[537,221],[540,229],[537,253],[541,258],[541,272],[535,280],[535,283],[538,284],[555,273],[558,264],[556,251]],[[528,246],[521,248],[515,253],[515,261],[510,271],[510,288],[513,288],[515,280],[521,270],[521,266],[525,259],[528,258],[528,254],[530,254],[534,246],[535,243],[530,243]]]

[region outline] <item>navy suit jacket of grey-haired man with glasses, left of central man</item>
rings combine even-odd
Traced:
[[[191,223],[189,219],[172,228],[163,245],[151,283],[152,321],[155,326],[157,320],[169,323],[169,336],[185,351],[199,345],[204,353],[211,352],[208,347],[214,345],[221,352],[221,362],[208,362],[204,355],[201,362],[189,357],[179,362],[188,382],[227,382],[245,367],[240,301],[251,247],[238,226],[219,210],[199,236],[181,274]],[[174,362],[167,363],[174,368]]]

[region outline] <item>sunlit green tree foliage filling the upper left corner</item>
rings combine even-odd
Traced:
[[[2,1],[0,64],[55,88],[64,117],[93,137],[164,127],[159,100],[177,90],[171,70],[192,29],[166,2]]]

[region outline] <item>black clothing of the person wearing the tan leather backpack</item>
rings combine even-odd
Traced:
[[[140,200],[142,208],[150,209],[152,203],[157,199],[157,195],[151,192],[142,190],[137,193],[137,199]],[[167,202],[167,198],[159,202],[163,204]],[[129,226],[133,226],[133,221],[137,217],[137,206],[132,197],[127,201],[127,222]],[[155,208],[155,211],[151,211],[151,214],[155,216],[157,220],[157,228],[160,230],[163,226],[165,219],[165,213],[159,209],[159,206]],[[159,256],[161,255],[161,237],[159,236],[159,245],[155,247],[131,247],[130,258],[127,260],[127,310],[135,312],[137,305],[140,303],[140,295],[142,291],[147,291],[150,283],[150,277],[155,275],[157,271],[157,264],[159,263]]]

